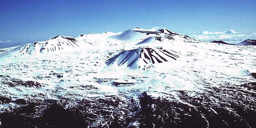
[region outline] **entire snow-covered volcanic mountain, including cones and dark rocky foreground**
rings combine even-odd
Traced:
[[[0,51],[3,127],[256,127],[255,46],[156,27]]]

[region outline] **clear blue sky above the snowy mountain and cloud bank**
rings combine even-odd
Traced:
[[[0,42],[120,32],[136,26],[164,27],[197,39],[204,31],[256,32],[256,0],[0,1]]]

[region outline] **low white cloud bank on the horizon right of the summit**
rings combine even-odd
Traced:
[[[222,40],[230,44],[238,44],[246,39],[256,39],[256,32],[243,30],[235,31],[229,29],[228,31],[203,31],[203,32],[189,32],[188,36],[197,40],[211,42],[213,40]]]

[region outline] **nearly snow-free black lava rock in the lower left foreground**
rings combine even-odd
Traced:
[[[0,113],[0,128],[84,128],[88,125],[78,110],[67,110],[56,103],[45,109],[43,116],[33,117],[40,105],[29,103],[13,112]]]

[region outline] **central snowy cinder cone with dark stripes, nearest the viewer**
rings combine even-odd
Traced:
[[[118,55],[108,59],[107,65],[124,66],[130,69],[147,70],[157,63],[177,60],[179,55],[172,50],[163,48],[139,48],[122,51]]]

